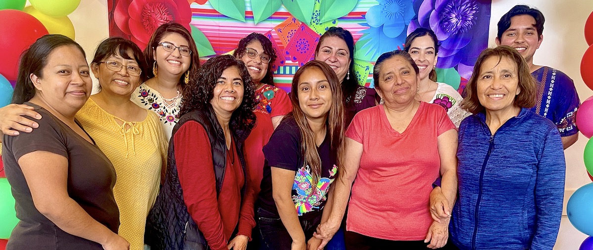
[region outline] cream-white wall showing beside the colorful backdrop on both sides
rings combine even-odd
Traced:
[[[588,48],[584,38],[586,18],[593,11],[591,0],[492,0],[492,14],[490,20],[489,46],[495,46],[496,23],[500,17],[516,4],[526,4],[536,7],[546,17],[544,25],[544,41],[534,56],[534,63],[546,65],[565,72],[575,81],[576,89],[581,101],[593,95],[581,79],[580,65],[582,55]],[[98,43],[109,36],[107,24],[106,0],[83,0],[79,7],[69,15],[76,30],[76,41],[87,52],[90,62]],[[96,79],[95,79],[96,84]],[[583,151],[588,139],[582,134],[578,142],[565,150],[566,155],[566,198],[574,190],[591,182],[583,162]],[[575,233],[566,217],[560,229],[560,235],[554,249],[578,249],[584,235]],[[568,232],[563,234],[563,232]],[[576,235],[576,236],[575,236]],[[576,237],[572,240],[570,237]]]

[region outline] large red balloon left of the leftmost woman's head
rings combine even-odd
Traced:
[[[32,15],[15,9],[1,10],[0,74],[9,81],[16,80],[21,53],[45,34],[47,29]]]

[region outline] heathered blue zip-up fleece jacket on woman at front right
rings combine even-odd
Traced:
[[[467,117],[457,158],[459,198],[449,230],[458,248],[553,248],[566,164],[551,121],[522,108],[492,135],[486,114]]]

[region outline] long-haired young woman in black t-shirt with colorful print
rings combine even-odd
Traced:
[[[344,111],[336,73],[313,60],[292,80],[292,113],[264,146],[257,214],[268,249],[317,248],[313,237],[331,210],[331,183],[343,152]],[[327,212],[325,212],[327,211]]]

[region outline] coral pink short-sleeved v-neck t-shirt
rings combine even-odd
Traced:
[[[364,150],[346,230],[391,241],[425,239],[432,223],[429,195],[441,168],[437,137],[451,129],[445,110],[426,102],[403,133],[391,128],[383,105],[356,114],[346,136]]]

